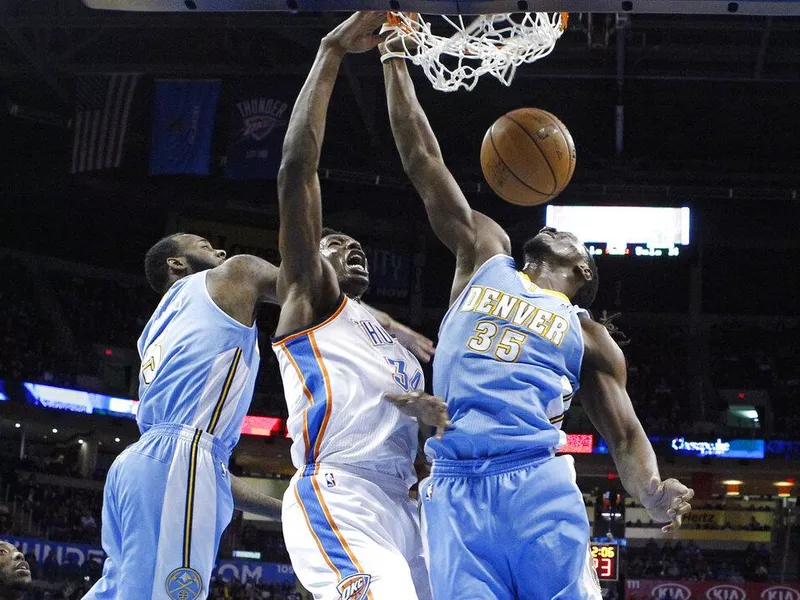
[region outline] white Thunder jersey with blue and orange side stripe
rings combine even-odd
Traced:
[[[357,301],[343,296],[323,322],[273,341],[297,469],[353,465],[416,481],[417,421],[384,398],[422,390],[422,369]]]

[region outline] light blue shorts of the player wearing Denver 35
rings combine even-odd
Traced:
[[[437,460],[420,498],[437,600],[600,600],[571,456]]]

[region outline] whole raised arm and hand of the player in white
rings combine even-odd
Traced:
[[[286,335],[330,313],[340,296],[333,267],[322,258],[319,156],[331,93],[347,52],[366,52],[380,38],[381,13],[356,13],[326,35],[297,97],[278,172],[278,299],[281,316],[276,335]]]

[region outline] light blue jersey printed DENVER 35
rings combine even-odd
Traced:
[[[583,358],[581,313],[510,256],[486,261],[439,329],[433,389],[453,427],[428,440],[428,455],[464,460],[563,445]]]

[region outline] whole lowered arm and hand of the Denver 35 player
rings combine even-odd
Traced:
[[[656,455],[625,389],[625,356],[608,330],[581,318],[585,343],[578,397],[600,435],[608,442],[625,489],[647,509],[653,520],[669,522],[662,531],[681,526],[691,510],[694,491],[676,479],[662,481]]]

